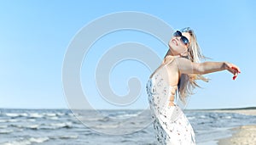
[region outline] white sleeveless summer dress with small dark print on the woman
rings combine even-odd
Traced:
[[[149,78],[146,88],[156,144],[194,145],[195,132],[189,120],[177,104],[169,105],[169,98],[176,93],[177,86],[168,85],[156,72]]]

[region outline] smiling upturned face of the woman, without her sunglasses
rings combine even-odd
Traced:
[[[189,42],[190,35],[188,32],[182,32],[182,35],[185,36]],[[181,36],[172,36],[172,39],[169,41],[169,48],[173,55],[179,55],[181,53],[186,53],[188,51],[189,44],[184,44],[181,40]]]

